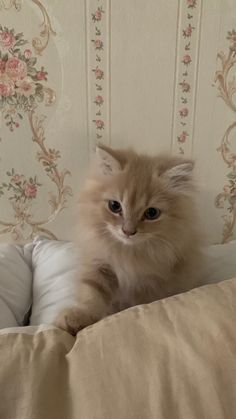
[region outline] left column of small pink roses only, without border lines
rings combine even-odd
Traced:
[[[105,122],[104,122],[104,78],[105,78],[105,57],[103,53],[104,41],[103,41],[103,16],[105,14],[104,6],[101,5],[101,1],[94,1],[94,10],[91,13],[91,28],[94,34],[94,38],[91,39],[92,50],[93,50],[93,61],[96,63],[92,72],[94,74],[94,115],[92,122],[95,128],[96,140],[101,140],[104,135]]]

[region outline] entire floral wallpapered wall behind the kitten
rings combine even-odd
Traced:
[[[0,0],[0,241],[74,238],[96,141],[194,157],[209,242],[235,237],[235,19],[234,0]]]

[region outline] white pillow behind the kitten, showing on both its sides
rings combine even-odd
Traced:
[[[236,241],[209,246],[205,283],[236,277]],[[30,324],[50,324],[65,307],[76,304],[79,257],[75,244],[39,238],[32,252],[33,308]]]

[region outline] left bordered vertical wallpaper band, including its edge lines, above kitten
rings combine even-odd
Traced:
[[[109,141],[109,1],[85,1],[90,145]]]

